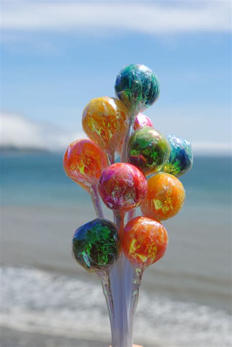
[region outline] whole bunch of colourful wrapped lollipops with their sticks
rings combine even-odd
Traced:
[[[86,105],[82,125],[89,139],[72,142],[63,164],[90,193],[97,215],[75,231],[72,255],[101,280],[112,347],[132,347],[142,274],[166,251],[168,234],[161,221],[175,216],[185,201],[177,177],[191,169],[192,150],[186,140],[165,137],[141,113],[160,94],[151,69],[125,66],[115,92],[118,99],[96,98]],[[116,155],[120,162],[115,163]],[[113,211],[114,223],[104,219],[100,198]]]

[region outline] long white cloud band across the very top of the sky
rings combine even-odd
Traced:
[[[147,34],[230,32],[230,1],[2,1],[1,27],[23,30],[108,30]],[[106,30],[107,29],[107,30]]]

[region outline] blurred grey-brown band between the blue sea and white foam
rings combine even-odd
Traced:
[[[72,233],[95,218],[91,204],[84,204],[77,214],[78,207],[1,206],[1,264],[41,269],[99,285],[98,278],[71,256]],[[208,225],[204,224],[209,219],[207,211],[198,213],[196,220],[191,208],[164,223],[169,247],[162,261],[144,272],[141,291],[232,312],[230,244],[218,237],[219,228],[229,231],[229,226],[216,212],[208,213]],[[106,217],[111,218],[109,211]],[[215,240],[218,251],[212,252]]]

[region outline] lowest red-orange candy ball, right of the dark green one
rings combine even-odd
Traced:
[[[122,248],[127,259],[137,268],[145,269],[164,255],[168,245],[167,231],[158,221],[136,217],[122,232]]]

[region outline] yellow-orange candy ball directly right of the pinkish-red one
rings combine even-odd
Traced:
[[[147,181],[147,195],[141,204],[144,216],[164,221],[175,216],[185,202],[181,181],[169,173],[157,173]]]

